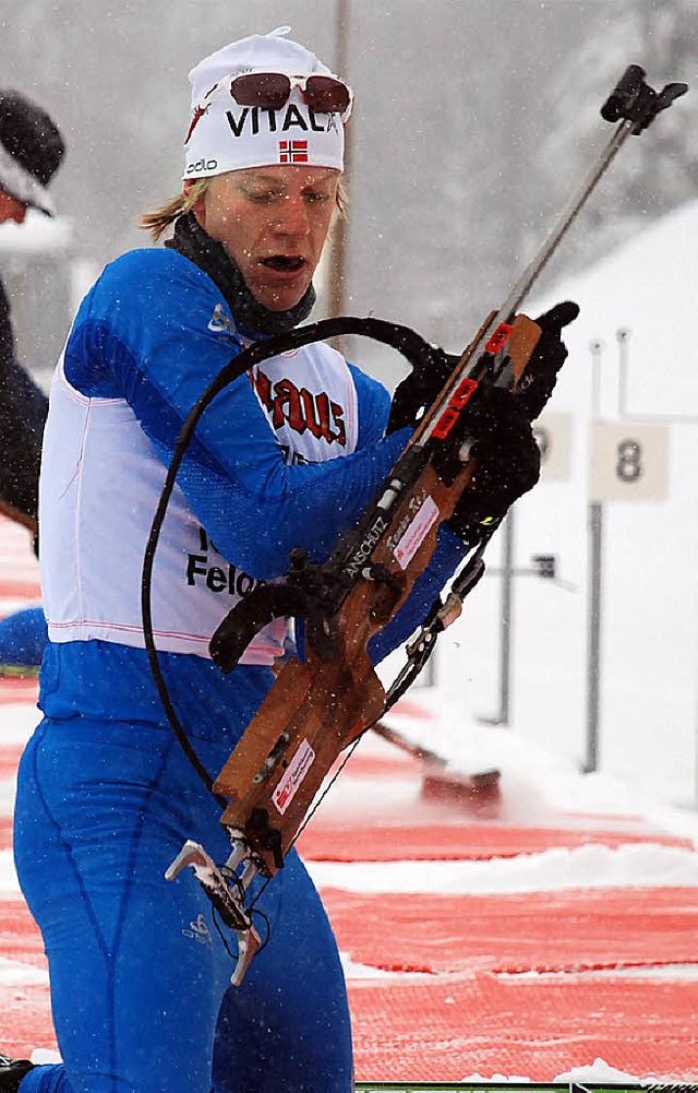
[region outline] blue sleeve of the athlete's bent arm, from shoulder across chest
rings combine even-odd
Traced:
[[[239,342],[209,319],[221,307],[213,282],[173,251],[134,251],[107,267],[71,333],[66,374],[83,393],[125,398],[164,461],[181,424]],[[206,319],[209,319],[206,324]],[[281,576],[293,548],[327,556],[378,492],[406,430],[376,434],[387,392],[370,386],[360,450],[321,463],[286,466],[248,377],[209,407],[178,484],[216,548],[260,579]],[[380,408],[383,408],[382,410]],[[359,412],[360,418],[360,412]],[[263,533],[260,533],[263,529]]]

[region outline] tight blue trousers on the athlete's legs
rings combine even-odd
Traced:
[[[228,749],[198,751],[217,774]],[[164,880],[186,838],[225,860],[218,819],[168,730],[39,725],[20,766],[14,846],[63,1063],[31,1071],[22,1093],[352,1089],[336,942],[295,851],[259,897],[269,941],[240,987],[193,873]]]

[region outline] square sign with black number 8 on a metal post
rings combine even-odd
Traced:
[[[665,425],[595,422],[591,430],[590,501],[664,501],[669,478]]]

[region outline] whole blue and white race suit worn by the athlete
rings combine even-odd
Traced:
[[[241,344],[203,270],[145,249],[104,271],[56,371],[39,509],[44,719],[20,768],[15,855],[63,1065],[31,1071],[22,1093],[352,1089],[336,943],[296,853],[257,904],[269,941],[237,988],[203,891],[189,873],[164,880],[186,838],[216,860],[229,845],[152,680],[143,551],[181,424]],[[238,378],[197,427],[156,553],[153,625],[175,707],[214,775],[273,682],[286,627],[263,631],[230,675],[210,659],[211,635],[285,573],[294,546],[322,560],[356,520],[409,436],[383,436],[389,404],[380,384],[315,344]],[[463,551],[445,531],[374,639],[375,660],[414,628]]]

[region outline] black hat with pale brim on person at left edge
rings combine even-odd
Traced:
[[[17,91],[0,91],[0,189],[52,216],[46,191],[66,145],[46,110]]]

